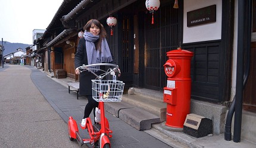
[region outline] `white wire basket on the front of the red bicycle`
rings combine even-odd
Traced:
[[[120,102],[123,91],[123,81],[92,80],[92,98],[97,102]]]

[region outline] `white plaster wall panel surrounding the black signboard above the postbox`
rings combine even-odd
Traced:
[[[195,5],[196,4],[196,5]],[[216,4],[216,22],[187,27],[187,12]],[[221,0],[189,0],[184,1],[183,43],[221,39]]]

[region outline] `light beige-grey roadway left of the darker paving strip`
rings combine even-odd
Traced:
[[[5,65],[0,70],[0,147],[77,147],[67,124],[32,82],[32,70]]]

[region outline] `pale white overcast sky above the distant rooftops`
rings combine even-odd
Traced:
[[[33,44],[33,30],[46,30],[63,0],[0,0],[0,40]]]

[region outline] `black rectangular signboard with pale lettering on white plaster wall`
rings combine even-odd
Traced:
[[[209,22],[216,22],[216,5],[187,12],[188,27],[207,24]]]

